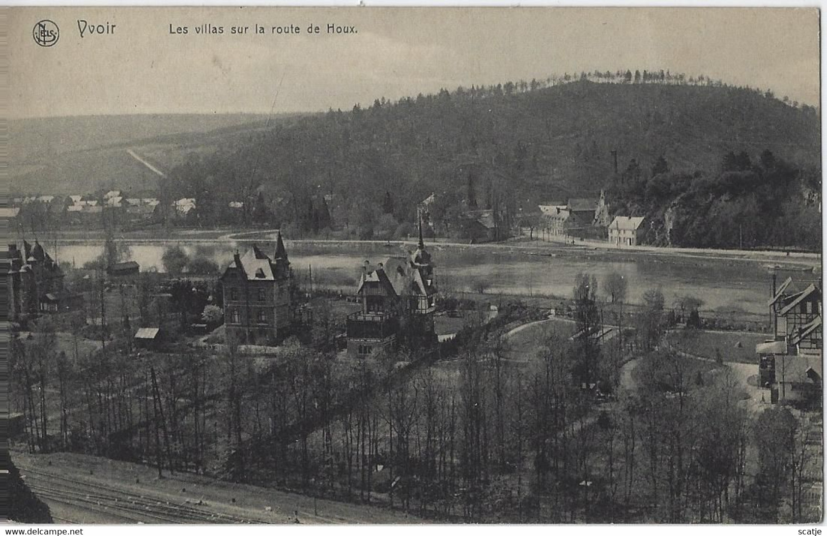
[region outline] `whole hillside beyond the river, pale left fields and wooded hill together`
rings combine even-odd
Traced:
[[[117,188],[164,199],[194,197],[198,217],[190,225],[285,225],[294,236],[329,227],[385,239],[412,232],[418,202],[433,192],[437,232],[468,238],[457,235],[466,203],[497,209],[500,226],[507,227],[538,203],[596,196],[605,188],[611,211],[647,216],[656,225],[650,244],[820,244],[820,116],[814,107],[708,78],[662,83],[650,74],[648,82],[632,83],[626,76],[626,83],[457,88],[270,120],[31,120],[28,137],[15,143],[28,140],[29,154],[41,156],[13,159],[12,189],[68,194]],[[70,126],[83,134],[67,134]],[[71,141],[55,145],[60,139]],[[727,164],[725,155],[741,164]],[[653,181],[658,173],[663,176]],[[228,208],[240,201],[246,202],[243,211]],[[708,233],[711,221],[728,232]],[[759,229],[774,223],[772,232]]]

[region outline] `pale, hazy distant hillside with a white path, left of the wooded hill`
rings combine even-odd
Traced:
[[[184,154],[214,149],[210,135],[232,139],[239,130],[263,126],[248,114],[70,116],[9,121],[12,191],[69,195],[99,187],[155,189],[157,176],[126,149],[163,147]],[[141,153],[143,154],[143,153]],[[169,159],[170,168],[183,162]]]

